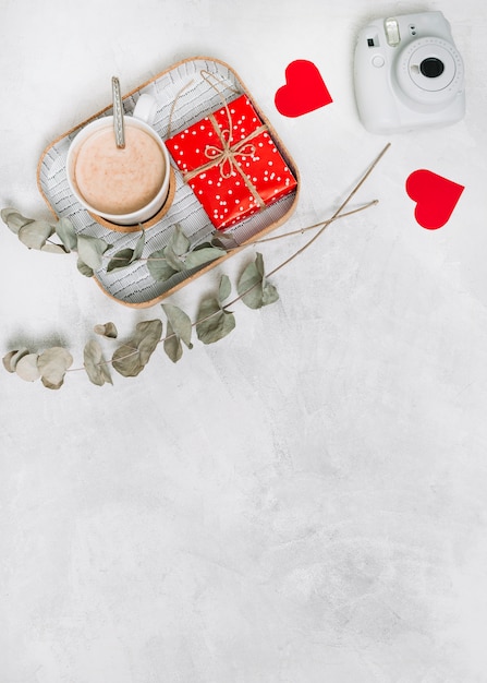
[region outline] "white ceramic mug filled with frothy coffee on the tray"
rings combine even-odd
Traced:
[[[123,117],[123,149],[115,144],[112,116],[92,121],[73,139],[66,158],[68,183],[92,214],[129,226],[148,220],[165,205],[170,161],[165,143],[149,124],[155,108],[156,100],[144,94],[133,115]]]

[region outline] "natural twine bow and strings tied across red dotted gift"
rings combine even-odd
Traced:
[[[215,132],[218,135],[220,146],[206,145],[204,154],[206,158],[209,159],[209,161],[185,173],[184,180],[186,182],[190,182],[193,178],[196,178],[196,176],[204,173],[206,170],[209,170],[210,168],[214,168],[215,166],[219,167],[220,176],[224,179],[231,178],[232,176],[240,173],[245,185],[249,190],[251,194],[255,199],[258,206],[260,208],[264,208],[265,206],[264,200],[257,192],[253,182],[245,175],[245,171],[242,169],[241,165],[238,161],[238,157],[241,157],[241,158],[249,157],[252,159],[255,157],[256,148],[255,148],[255,145],[251,144],[251,141],[257,135],[260,135],[260,133],[267,131],[267,125],[264,125],[264,124],[259,125],[254,131],[252,131],[252,133],[249,133],[242,140],[239,140],[238,142],[232,144],[232,133],[231,133],[232,119],[231,119],[230,111],[228,110],[227,106],[226,106],[226,109],[227,109],[227,116],[229,119],[229,127],[230,127],[229,130],[227,129],[222,130],[218,125],[217,120],[215,119],[212,113],[208,116],[208,119],[211,121]]]

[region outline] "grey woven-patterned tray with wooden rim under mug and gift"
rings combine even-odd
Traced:
[[[173,135],[184,130],[202,117],[215,111],[221,105],[220,96],[208,83],[208,80],[202,76],[202,70],[218,76],[220,92],[226,99],[231,100],[234,98],[235,91],[239,94],[245,93],[248,96],[263,122],[269,127],[269,132],[279,152],[297,180],[297,188],[293,193],[264,208],[248,219],[239,223],[226,232],[226,235],[231,236],[229,245],[234,247],[244,244],[256,237],[261,237],[284,223],[295,208],[300,190],[299,171],[294,161],[238,74],[228,64],[219,60],[204,57],[187,59],[159,73],[147,83],[125,95],[123,97],[123,107],[125,113],[131,113],[141,94],[148,93],[153,95],[158,103],[154,128],[162,140],[166,140],[169,136],[168,133]],[[111,106],[61,135],[44,151],[37,169],[39,191],[53,214],[59,217],[70,218],[76,232],[80,235],[100,237],[109,244],[112,244],[112,248],[105,254],[108,257],[107,263],[110,255],[113,255],[117,251],[124,248],[133,248],[139,231],[122,232],[112,230],[106,221],[97,221],[93,215],[83,208],[70,192],[65,173],[65,160],[70,143],[80,129],[88,121],[110,113],[112,113]],[[168,211],[162,212],[162,215],[156,216],[156,220],[151,220],[144,226],[145,249],[143,259],[156,250],[163,249],[175,224],[181,226],[192,244],[208,241],[215,232],[207,214],[191,188],[183,182],[181,172],[172,159],[171,165],[171,191],[174,197]],[[104,268],[95,273],[95,279],[109,297],[126,305],[143,308],[157,303],[195,277],[215,267],[217,263],[220,264],[229,255],[203,266],[196,273],[178,273],[167,281],[153,279],[143,260],[114,273],[107,273],[106,264],[104,264]]]

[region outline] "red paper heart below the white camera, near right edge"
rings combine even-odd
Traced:
[[[448,223],[464,189],[426,169],[414,171],[406,180],[406,192],[416,202],[414,216],[428,230],[436,230]]]

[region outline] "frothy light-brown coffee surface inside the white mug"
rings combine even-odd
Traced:
[[[143,208],[158,193],[166,160],[148,133],[125,125],[125,147],[117,147],[111,127],[95,131],[82,143],[74,165],[80,193],[94,208],[121,215]]]

